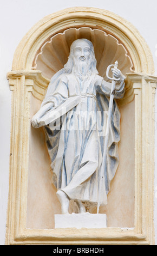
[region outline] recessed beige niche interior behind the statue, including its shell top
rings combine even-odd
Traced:
[[[47,80],[56,74],[58,70],[61,70],[64,64],[67,63],[70,46],[71,43],[78,39],[78,38],[86,38],[90,40],[95,49],[95,56],[97,60],[97,70],[99,71],[99,75],[101,75],[104,80],[107,80],[106,77],[106,69],[107,66],[115,63],[116,60],[119,62],[119,69],[122,71],[123,74],[128,72],[133,72],[134,64],[132,62],[132,57],[130,53],[127,51],[125,45],[122,44],[115,36],[108,34],[107,32],[97,29],[97,28],[90,28],[90,27],[80,27],[80,28],[68,28],[64,29],[63,32],[56,33],[55,35],[49,36],[43,44],[38,48],[34,60],[32,62],[32,69],[33,70],[40,70],[42,76],[45,77]],[[45,89],[46,92],[46,89]],[[38,96],[36,91],[33,92],[35,97],[31,97],[31,109],[32,114],[35,114],[38,108],[41,105],[41,101],[37,101],[36,99],[40,100],[41,97]],[[44,96],[44,95],[43,95]],[[130,97],[129,101],[133,101],[133,95]],[[129,103],[129,101],[127,103]],[[35,111],[33,111],[35,109]],[[106,209],[101,208],[101,213],[106,213],[108,216],[108,225],[110,227],[134,227],[134,102],[130,103],[129,106],[120,107],[121,110],[121,143],[119,145],[120,150],[120,167],[117,170],[117,175],[114,181],[114,184],[111,187],[111,193],[109,193],[108,205]],[[130,118],[128,116],[130,115]],[[127,123],[127,129],[126,124]],[[52,191],[52,184],[49,182],[47,188],[49,193],[47,192],[46,198],[49,199],[41,199],[41,201],[37,200],[38,197],[43,196],[45,188],[38,188],[34,189],[34,184],[32,184],[31,180],[34,180],[36,174],[41,173],[41,179],[39,179],[39,175],[36,177],[36,183],[41,184],[46,177],[48,180],[50,178],[50,161],[45,162],[38,162],[38,170],[36,170],[36,164],[34,161],[38,161],[38,159],[42,159],[43,157],[43,143],[40,144],[42,141],[39,140],[38,137],[42,137],[40,135],[40,131],[31,127],[31,137],[30,143],[31,147],[34,148],[34,154],[30,153],[29,159],[30,161],[30,179],[29,179],[29,197],[28,197],[28,228],[54,228],[54,214],[60,214],[60,210],[58,209],[60,205],[57,202],[56,198],[56,191],[55,189]],[[35,136],[36,135],[36,136]],[[38,135],[38,136],[37,136]],[[44,136],[43,136],[44,137]],[[44,138],[43,138],[44,140]],[[129,149],[128,149],[129,144]],[[38,148],[38,150],[36,150]],[[47,149],[44,149],[47,152]],[[127,154],[125,152],[127,151]],[[132,155],[132,157],[130,157]],[[128,166],[127,173],[122,173],[125,169],[126,162]],[[32,163],[32,164],[31,164]],[[41,167],[40,167],[41,166]],[[36,171],[35,171],[36,170]],[[44,178],[42,177],[44,173]],[[45,175],[47,173],[47,175]],[[129,176],[129,180],[126,179],[126,174]],[[49,178],[48,178],[49,177]],[[48,182],[44,180],[44,182]],[[44,186],[44,185],[43,185]],[[117,191],[114,190],[116,187]],[[33,193],[32,193],[33,191]],[[123,198],[123,193],[127,191],[127,200]],[[33,196],[32,196],[33,195]],[[121,198],[121,202],[119,201]],[[117,201],[119,204],[117,205]],[[46,206],[45,203],[47,202]],[[32,206],[33,205],[33,206]],[[53,205],[53,209],[50,208],[49,205]],[[45,209],[47,208],[47,213]],[[33,209],[33,210],[32,210]],[[40,214],[38,211],[40,209]],[[49,210],[48,210],[49,209]],[[125,209],[125,210],[124,210]],[[42,217],[42,212],[45,212],[44,218]],[[33,214],[34,212],[34,214]],[[52,214],[53,212],[53,214]],[[95,209],[91,212],[95,212]],[[38,215],[38,218],[35,218],[35,215]],[[118,217],[117,217],[118,216]],[[49,220],[49,221],[48,221]],[[45,225],[45,226],[44,226]]]

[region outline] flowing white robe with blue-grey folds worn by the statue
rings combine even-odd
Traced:
[[[124,94],[125,83],[121,81],[115,98]],[[50,119],[45,122],[46,142],[53,169],[53,183],[64,191],[69,199],[97,204],[100,186],[104,139],[107,123],[111,84],[96,74],[83,80],[73,74],[59,71],[50,81],[41,108],[48,103],[53,107],[41,118],[46,120],[63,105],[67,109],[55,119],[55,129]],[[73,100],[74,99],[74,100]],[[113,179],[119,156],[117,143],[120,141],[120,111],[113,103],[109,129],[107,164],[103,172],[101,205],[107,204],[107,193]]]

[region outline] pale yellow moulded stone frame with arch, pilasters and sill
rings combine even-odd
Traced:
[[[42,100],[49,81],[32,70],[38,48],[49,36],[76,26],[105,29],[132,57],[135,73],[127,74],[120,105],[135,100],[135,227],[106,229],[27,229],[27,188],[31,93]],[[10,180],[6,245],[153,245],[154,244],[154,96],[152,54],[126,20],[95,8],[69,8],[38,22],[17,47],[8,73],[12,90]]]

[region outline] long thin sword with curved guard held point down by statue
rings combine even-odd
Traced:
[[[100,175],[99,198],[98,198],[98,202],[97,202],[97,214],[99,214],[101,195],[102,195],[102,184],[103,184],[103,180],[104,180],[104,168],[106,167],[106,154],[107,154],[108,137],[109,137],[109,126],[110,126],[110,118],[111,118],[111,114],[112,114],[115,84],[116,84],[116,81],[120,80],[120,78],[115,78],[114,76],[112,78],[109,77],[109,70],[112,66],[115,69],[117,69],[117,65],[118,65],[118,62],[116,61],[113,65],[109,65],[106,70],[106,76],[109,80],[112,80],[112,85],[111,85],[111,90],[110,90],[110,100],[109,100],[109,107],[108,107],[106,137],[105,137],[105,141],[104,141],[104,151],[103,151],[102,164],[101,164],[101,169],[100,169],[101,175]]]

